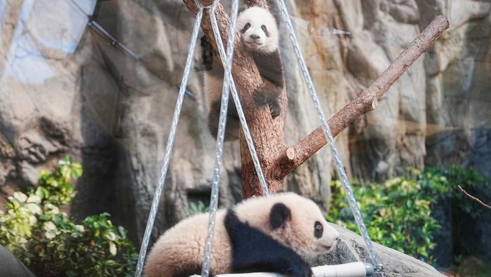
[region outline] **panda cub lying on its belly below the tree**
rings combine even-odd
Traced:
[[[147,277],[201,273],[208,214],[184,219],[164,233],[147,257]],[[339,233],[311,200],[293,193],[249,198],[219,210],[210,259],[210,276],[270,271],[312,276],[303,258],[331,250]]]

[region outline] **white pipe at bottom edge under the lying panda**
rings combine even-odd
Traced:
[[[315,277],[365,277],[372,276],[372,264],[364,262],[350,262],[347,264],[336,264],[331,266],[316,266],[312,267]],[[189,277],[199,277],[193,275]],[[236,273],[236,274],[220,274],[215,277],[287,277],[280,273],[271,272],[255,272],[255,273]]]

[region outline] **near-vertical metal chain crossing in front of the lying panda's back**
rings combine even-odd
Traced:
[[[215,18],[215,8],[220,0],[213,1],[210,9],[210,20],[212,25],[218,27],[217,19]],[[229,86],[231,79],[231,65],[234,58],[234,39],[235,39],[235,25],[237,21],[238,0],[232,1],[231,22],[229,31],[229,43],[227,44],[227,55],[221,55],[227,57],[227,62],[224,62],[224,81],[222,88],[222,103],[220,104],[220,119],[218,120],[218,134],[217,134],[217,149],[215,156],[215,168],[213,170],[213,182],[211,184],[211,196],[210,196],[210,221],[208,222],[208,236],[205,243],[205,257],[203,261],[203,267],[201,268],[201,276],[208,277],[210,274],[210,259],[211,248],[213,243],[213,230],[215,229],[215,215],[217,213],[218,206],[218,193],[220,190],[220,165],[222,164],[222,152],[223,141],[225,135],[225,123],[227,123],[227,109],[229,106]],[[214,29],[215,31],[215,29]],[[220,34],[215,34],[215,39],[220,38]],[[221,39],[220,39],[221,41]],[[223,47],[222,47],[223,48]],[[223,49],[222,49],[223,50]]]

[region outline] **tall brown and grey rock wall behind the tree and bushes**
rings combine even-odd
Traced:
[[[85,170],[72,214],[111,212],[138,242],[159,182],[194,18],[177,0],[92,4],[0,3],[0,189],[6,196],[36,184],[37,170],[71,154]],[[376,111],[338,135],[337,147],[358,180],[384,180],[425,163],[471,165],[489,176],[489,1],[311,0],[288,6],[328,116],[361,93],[436,15],[447,16],[450,29]],[[97,26],[88,27],[92,14],[130,52]],[[285,134],[293,144],[319,123],[287,36],[281,48],[289,100]],[[187,215],[189,202],[209,198],[215,142],[206,128],[201,82],[195,53],[187,86],[192,95],[184,99],[154,238]],[[240,157],[238,142],[224,147],[220,204],[228,205],[241,198]],[[333,172],[330,153],[322,149],[288,177],[285,189],[327,208]],[[482,230],[491,230],[487,224]],[[489,238],[489,231],[480,236],[487,249]]]

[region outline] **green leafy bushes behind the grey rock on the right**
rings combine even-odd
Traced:
[[[471,191],[490,188],[489,184],[483,186],[485,178],[477,170],[459,165],[448,169],[427,168],[424,172],[410,168],[409,171],[414,179],[396,177],[384,184],[354,184],[354,196],[370,238],[431,263],[434,260],[430,253],[436,246],[432,238],[440,229],[436,219],[438,210],[432,210],[433,204],[449,199],[455,209],[476,218],[485,209],[477,207],[478,204],[464,196],[457,186],[460,184]],[[342,184],[333,181],[331,189],[333,197],[328,220],[358,233]]]

